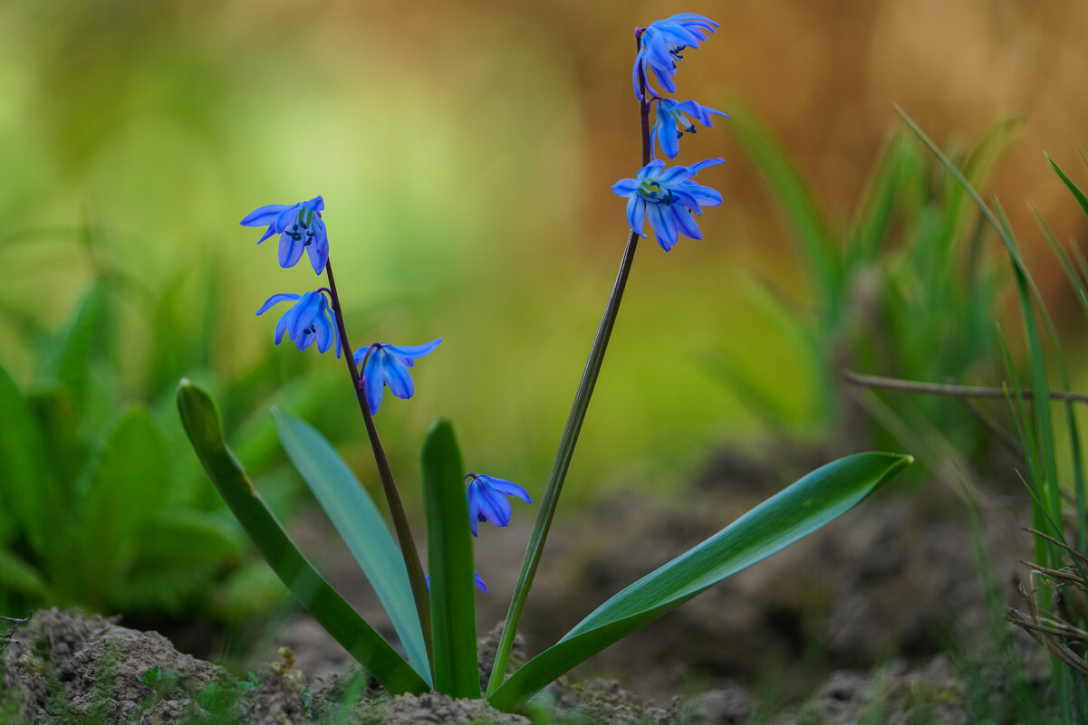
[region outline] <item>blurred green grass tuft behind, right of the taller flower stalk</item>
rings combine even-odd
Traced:
[[[841,422],[845,401],[836,391],[843,367],[937,383],[992,373],[1003,277],[982,248],[977,210],[937,173],[924,147],[893,135],[853,217],[837,225],[754,113],[741,103],[729,108],[735,112],[727,127],[767,183],[799,253],[811,302],[766,291],[756,301],[771,328],[798,341],[817,391],[809,417],[819,429]],[[1016,120],[1002,121],[966,154],[955,154],[972,184],[986,182],[1018,128]],[[720,351],[717,367],[763,417],[788,423],[784,415],[775,418],[781,393],[761,385],[730,350]],[[968,454],[988,439],[957,401],[897,398],[894,413],[907,427],[941,421],[942,433]],[[886,445],[904,446],[886,435]]]

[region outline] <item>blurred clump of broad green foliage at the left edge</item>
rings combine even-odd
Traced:
[[[249,576],[245,539],[202,493],[176,418],[122,383],[131,376],[111,340],[124,289],[110,276],[88,287],[41,339],[27,389],[0,364],[0,611],[211,614],[217,588]],[[220,614],[251,615],[280,597],[236,599]]]

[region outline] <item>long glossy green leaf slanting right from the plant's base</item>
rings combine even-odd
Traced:
[[[613,642],[838,518],[912,461],[908,455],[858,453],[817,468],[606,601],[515,672],[489,700],[499,710],[517,707]]]

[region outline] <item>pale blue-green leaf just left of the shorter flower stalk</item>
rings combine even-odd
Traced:
[[[272,417],[275,418],[287,458],[298,468],[374,587],[404,643],[408,661],[423,679],[430,680],[431,668],[408,572],[400,549],[378,507],[336,449],[317,428],[279,409],[272,409]]]

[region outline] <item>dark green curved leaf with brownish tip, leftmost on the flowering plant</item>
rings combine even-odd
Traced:
[[[283,530],[226,447],[211,397],[183,379],[177,386],[177,409],[208,476],[261,555],[302,607],[390,692],[429,690],[426,682],[329,586]]]

